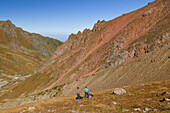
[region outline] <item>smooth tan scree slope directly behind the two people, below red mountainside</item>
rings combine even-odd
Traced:
[[[85,86],[88,86],[91,91],[98,91],[150,81],[170,80],[169,47],[170,44],[117,66],[69,82],[62,88],[62,95],[75,94],[77,86],[80,86],[83,93]]]

